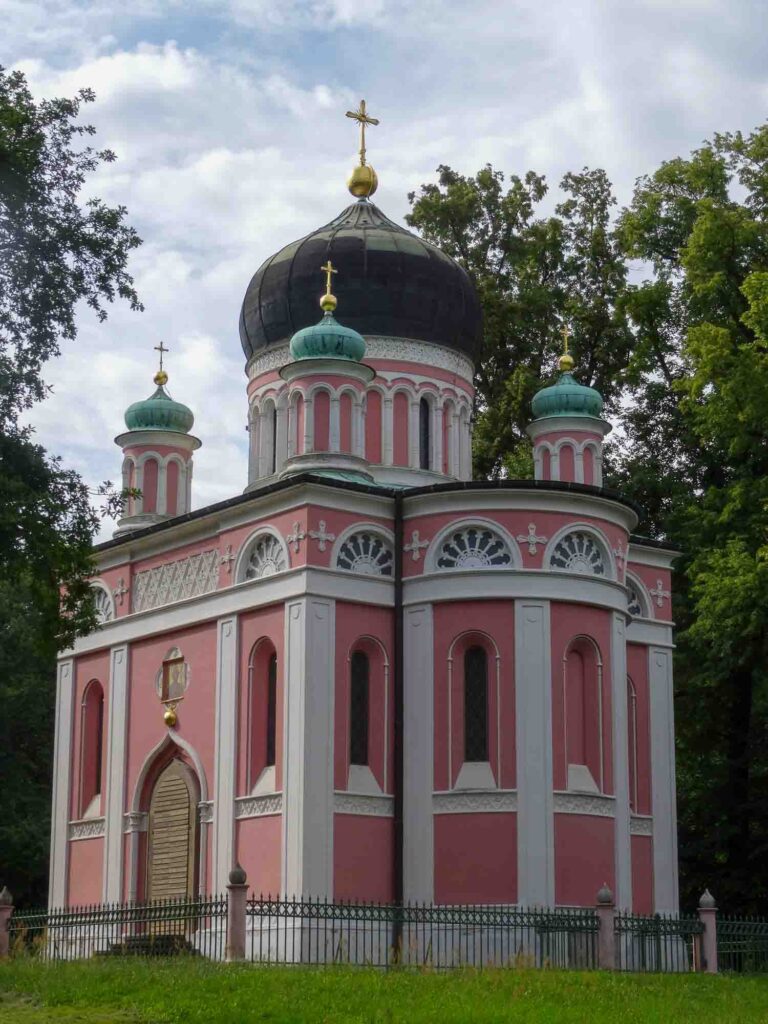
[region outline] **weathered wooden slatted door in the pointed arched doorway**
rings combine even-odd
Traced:
[[[146,847],[146,898],[183,899],[195,895],[199,858],[198,783],[174,758],[160,773],[150,799]]]

